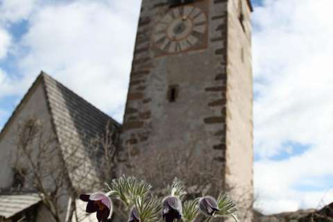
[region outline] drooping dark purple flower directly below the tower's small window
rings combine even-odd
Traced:
[[[164,198],[162,216],[167,222],[182,218],[182,203],[176,196]]]

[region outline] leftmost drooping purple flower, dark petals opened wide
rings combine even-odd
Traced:
[[[102,192],[94,194],[81,194],[80,199],[88,202],[85,212],[94,213],[99,222],[107,222],[112,212],[112,202],[106,194]]]

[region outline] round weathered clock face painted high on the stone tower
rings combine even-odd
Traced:
[[[207,34],[207,16],[196,6],[172,8],[155,26],[153,41],[160,54],[202,48]]]

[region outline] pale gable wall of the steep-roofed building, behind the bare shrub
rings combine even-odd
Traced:
[[[51,125],[51,116],[49,113],[48,103],[46,101],[44,84],[41,79],[37,79],[36,83],[29,90],[25,96],[23,102],[18,106],[17,110],[7,124],[6,129],[3,130],[0,136],[0,191],[1,189],[6,190],[12,187],[14,172],[12,167],[15,166],[15,159],[17,157],[17,128],[23,121],[30,119],[31,117],[37,118],[42,123],[44,133],[43,135],[49,135],[53,133]],[[55,148],[58,148],[57,144],[54,144]],[[37,148],[36,148],[37,149]],[[53,161],[58,163],[59,158],[53,157]],[[23,169],[27,169],[28,166],[20,165]],[[44,183],[47,187],[52,187],[51,181],[45,179]],[[23,190],[33,190],[31,184],[25,182]],[[64,191],[67,192],[67,191]],[[61,198],[60,209],[63,210],[63,218],[65,219],[68,196]],[[46,215],[46,216],[45,216]],[[37,221],[49,221],[50,215],[45,207],[39,207],[37,211]]]

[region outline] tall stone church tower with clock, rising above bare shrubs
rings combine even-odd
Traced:
[[[253,189],[250,0],[143,0],[124,147],[209,153],[234,195]]]

